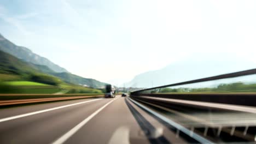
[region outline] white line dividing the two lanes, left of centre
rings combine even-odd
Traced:
[[[61,144],[64,143],[66,140],[69,139],[72,135],[74,135],[80,128],[82,128],[86,123],[90,121],[94,116],[96,116],[100,111],[102,111],[106,106],[108,106],[110,103],[112,103],[114,100],[109,101],[106,105],[102,106],[100,109],[92,113],[89,117],[85,118],[82,122],[80,122],[78,125],[76,125],[74,128],[69,130],[66,134],[62,135],[59,139],[53,142],[53,144]]]

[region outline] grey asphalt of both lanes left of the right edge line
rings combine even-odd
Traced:
[[[88,118],[89,121],[80,125],[63,143],[186,143],[128,98],[91,100],[94,99],[0,109],[1,121],[6,117],[89,101],[0,122],[0,143],[53,143]]]

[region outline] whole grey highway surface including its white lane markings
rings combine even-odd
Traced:
[[[108,99],[88,98],[2,107],[0,109],[0,143],[222,142],[207,135],[203,136],[200,131],[198,134],[194,133],[196,127],[222,123],[216,119],[220,118],[220,114],[217,113],[218,116],[214,117],[217,115],[214,111],[211,119],[215,118],[216,123],[207,117],[208,114],[204,115],[202,112],[191,116],[191,112],[186,113],[184,110],[168,109],[166,111],[170,113],[166,113],[149,107],[120,95]],[[246,116],[250,116],[251,121],[247,124],[255,124],[255,114],[247,114],[246,112],[228,113],[233,117],[242,115],[243,121],[246,120]],[[203,121],[202,118],[208,119]],[[225,118],[223,122],[227,122]]]

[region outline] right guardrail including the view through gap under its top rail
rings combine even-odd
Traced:
[[[131,96],[256,106],[256,69],[142,89]]]

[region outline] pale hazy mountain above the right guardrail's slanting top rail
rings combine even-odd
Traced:
[[[256,63],[238,56],[219,54],[188,58],[165,68],[135,76],[126,87],[157,87],[256,68]]]

